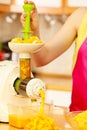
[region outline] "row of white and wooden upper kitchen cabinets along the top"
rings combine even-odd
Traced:
[[[71,14],[78,7],[87,6],[87,0],[32,0],[39,14]],[[21,13],[24,0],[0,0],[0,12]]]

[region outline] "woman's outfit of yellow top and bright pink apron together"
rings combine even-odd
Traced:
[[[70,111],[87,110],[87,11],[76,39]]]

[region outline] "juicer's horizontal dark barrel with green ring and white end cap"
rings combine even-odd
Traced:
[[[13,87],[17,94],[28,96],[30,99],[35,100],[41,97],[41,89],[45,91],[45,84],[39,78],[25,78],[23,80],[20,80],[20,78],[16,78]]]

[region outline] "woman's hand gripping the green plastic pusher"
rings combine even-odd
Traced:
[[[30,14],[30,26],[31,26],[31,30],[33,31],[33,35],[36,35],[39,37],[39,18],[38,18],[37,8],[34,2],[32,1],[24,0],[24,4],[34,5],[34,9],[31,11],[31,14]],[[23,12],[20,17],[20,21],[23,26],[25,24],[25,19],[26,19],[26,13]]]

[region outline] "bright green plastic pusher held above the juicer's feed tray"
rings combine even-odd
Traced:
[[[24,25],[24,40],[28,39],[31,34],[31,28],[30,28],[30,13],[34,9],[34,5],[32,4],[24,4],[23,9],[26,13],[26,20]]]

